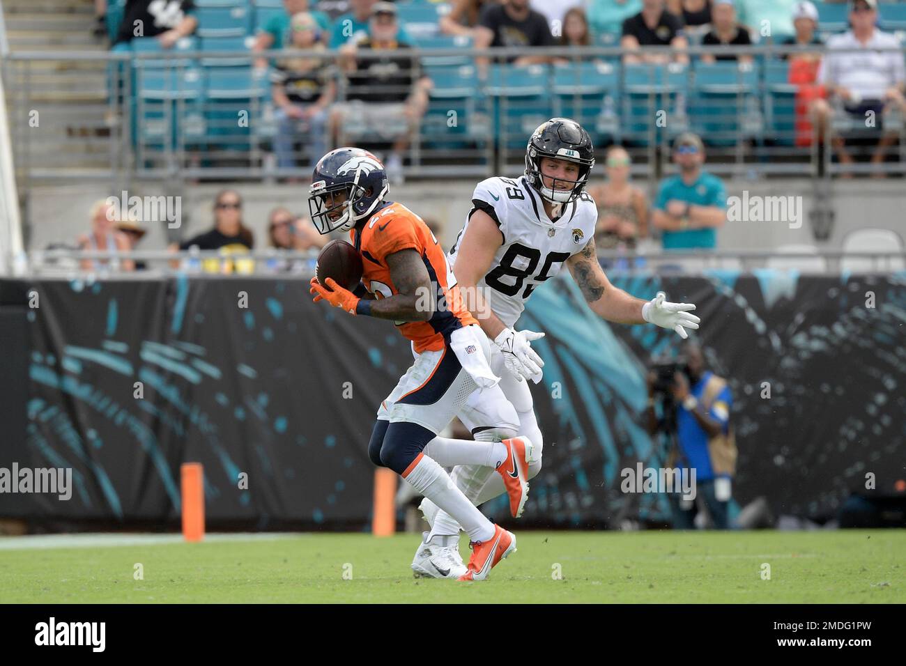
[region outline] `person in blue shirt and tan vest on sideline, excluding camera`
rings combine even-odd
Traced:
[[[728,506],[736,474],[737,448],[730,409],[733,396],[727,380],[706,370],[698,343],[685,343],[688,377],[674,375],[677,405],[678,466],[695,469],[696,494],[701,497],[715,529],[728,529]],[[684,471],[685,473],[685,471]],[[695,510],[674,503],[674,526],[692,529]]]

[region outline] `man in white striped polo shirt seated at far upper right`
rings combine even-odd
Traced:
[[[895,36],[875,27],[877,0],[851,2],[849,20],[852,26],[849,31],[828,38],[828,50],[818,70],[818,82],[824,84],[831,101],[813,102],[815,121],[822,135],[830,129],[834,102],[842,104],[843,112],[865,127],[882,128],[884,114],[891,111],[906,114],[903,54]],[[832,140],[841,163],[852,163],[853,157],[846,150],[843,137],[834,136]],[[896,140],[896,132],[883,133],[872,163],[881,164],[887,148]]]

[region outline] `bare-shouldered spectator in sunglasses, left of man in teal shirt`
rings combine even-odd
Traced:
[[[607,180],[588,188],[598,207],[594,246],[634,250],[636,241],[648,236],[648,198],[630,182],[631,159],[626,149],[612,146],[605,157]]]

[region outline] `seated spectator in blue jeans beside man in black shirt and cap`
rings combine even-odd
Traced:
[[[306,50],[324,50],[317,42],[318,24],[312,14],[293,16],[291,45]],[[336,97],[333,67],[325,58],[286,57],[277,61],[271,72],[272,97],[277,119],[274,150],[277,167],[296,166],[294,143],[307,140],[314,163],[327,152],[327,113]]]

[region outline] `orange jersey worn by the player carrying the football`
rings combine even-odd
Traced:
[[[352,245],[361,254],[361,282],[377,298],[397,294],[390,279],[387,256],[407,248],[418,251],[431,278],[435,312],[427,322],[397,322],[416,352],[439,351],[444,348],[444,336],[461,326],[477,323],[462,302],[453,271],[438,239],[421,219],[400,203],[390,202],[375,213],[361,232],[352,229]]]

